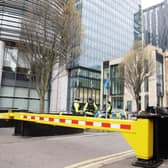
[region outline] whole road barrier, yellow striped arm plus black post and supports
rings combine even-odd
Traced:
[[[15,135],[55,135],[85,129],[120,132],[136,154],[139,167],[158,166],[168,157],[168,117],[141,115],[137,120],[103,119],[66,114],[39,114],[9,110],[1,119],[13,120]]]

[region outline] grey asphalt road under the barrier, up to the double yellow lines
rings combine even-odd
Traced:
[[[63,168],[130,149],[119,133],[85,132],[51,137],[12,134],[13,128],[0,128],[2,168]]]

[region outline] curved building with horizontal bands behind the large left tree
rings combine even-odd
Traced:
[[[20,108],[39,111],[39,96],[30,81],[25,54],[18,50],[21,25],[30,13],[29,6],[44,7],[33,0],[0,1],[0,108]],[[52,6],[53,7],[53,6]],[[54,6],[61,8],[61,4]],[[36,13],[35,13],[36,14]],[[49,94],[45,97],[45,111],[49,108]]]

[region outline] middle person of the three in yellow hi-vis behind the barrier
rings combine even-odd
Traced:
[[[86,116],[94,117],[98,107],[92,98],[89,98],[87,103],[84,105],[83,111]]]

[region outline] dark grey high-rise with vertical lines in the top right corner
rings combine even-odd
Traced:
[[[143,33],[145,44],[168,49],[168,1],[143,10]]]

